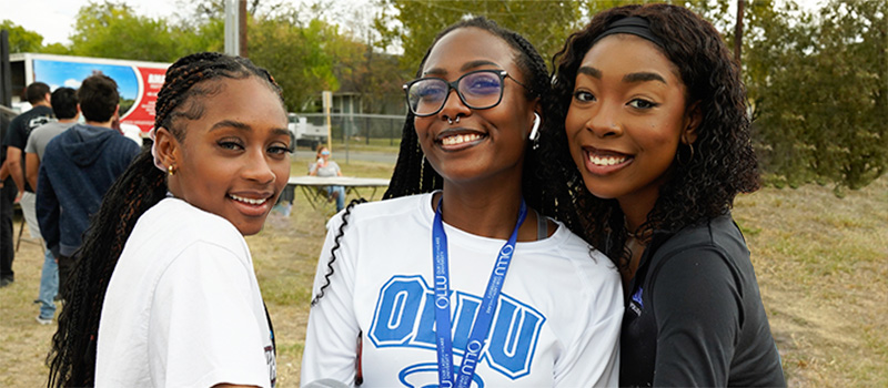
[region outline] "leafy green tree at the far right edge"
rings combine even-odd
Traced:
[[[859,188],[888,167],[888,3],[767,9],[747,37],[756,141],[770,182]],[[754,3],[756,7],[756,3]]]

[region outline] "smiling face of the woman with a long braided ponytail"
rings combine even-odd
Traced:
[[[262,229],[290,177],[286,113],[254,76],[206,82],[218,90],[195,98],[203,108],[198,120],[180,119],[183,142],[158,131],[164,165],[175,166],[170,192],[252,235]]]

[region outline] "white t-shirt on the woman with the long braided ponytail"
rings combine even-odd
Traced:
[[[137,222],[102,305],[97,387],[272,387],[272,331],[246,242],[164,198]]]

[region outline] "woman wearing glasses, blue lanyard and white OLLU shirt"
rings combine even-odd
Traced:
[[[616,268],[535,211],[552,211],[543,59],[480,18],[438,34],[417,76],[389,200],[330,224],[303,384],[615,386]]]

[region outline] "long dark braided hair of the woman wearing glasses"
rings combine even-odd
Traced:
[[[554,109],[554,104],[549,100],[551,83],[545,60],[542,55],[539,55],[533,44],[531,44],[531,42],[528,42],[519,33],[502,28],[496,24],[496,22],[484,17],[463,20],[441,31],[437,37],[435,37],[434,42],[432,42],[432,44],[428,47],[428,50],[426,50],[422,62],[420,62],[416,76],[421,76],[425,61],[428,59],[428,54],[432,52],[432,49],[435,47],[435,44],[450,32],[464,28],[482,29],[494,34],[495,37],[498,37],[508,43],[509,47],[512,47],[515,53],[515,63],[521,70],[522,75],[524,75],[525,84],[528,89],[527,98],[541,99],[541,106],[543,110],[543,123],[539,126],[541,142],[544,142],[545,139],[549,136],[551,132],[558,131],[558,126],[554,125],[554,122],[546,120],[549,116],[548,113]],[[407,110],[407,114],[404,120],[404,126],[401,132],[401,149],[397,154],[397,162],[395,164],[389,188],[383,195],[383,200],[396,198],[413,194],[431,193],[435,190],[441,190],[444,186],[444,180],[432,167],[428,161],[425,160],[425,155],[420,147],[420,140],[416,135],[413,120],[414,114]],[[542,214],[555,215],[557,213],[556,207],[558,203],[558,201],[555,200],[555,196],[563,195],[563,192],[551,190],[551,187],[561,187],[564,186],[564,184],[554,183],[549,176],[555,175],[545,173],[545,167],[541,165],[541,160],[536,150],[531,142],[527,142],[524,153],[524,172],[522,174],[522,192],[524,195],[524,201],[528,206],[536,208]],[[564,198],[568,200],[567,196],[564,196]],[[354,205],[354,203],[350,204],[345,210],[345,213],[343,213],[343,223],[340,226],[334,239],[336,244],[330,252],[327,273],[324,276],[324,284],[321,286],[321,289],[317,292],[314,299],[312,299],[312,305],[315,305],[324,296],[324,289],[330,286],[330,277],[334,273],[333,263],[336,261],[336,249],[340,246],[339,241],[345,233],[344,229],[347,225],[347,216],[351,214]]]

